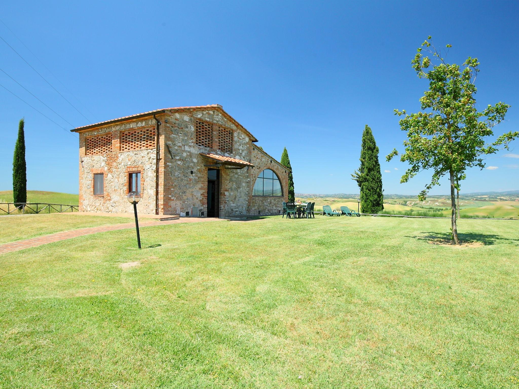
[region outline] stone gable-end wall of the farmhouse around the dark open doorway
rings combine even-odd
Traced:
[[[224,153],[196,144],[195,122],[201,119],[233,130],[233,152]],[[193,207],[207,215],[207,170],[214,161],[200,152],[250,161],[251,140],[233,121],[217,109],[173,112],[161,126],[165,137],[163,213],[185,215]],[[169,147],[169,149],[168,149]],[[171,151],[171,154],[169,152]],[[220,217],[244,215],[248,206],[247,168],[220,169]],[[197,216],[197,215],[195,215]]]

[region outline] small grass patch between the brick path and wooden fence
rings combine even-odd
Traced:
[[[66,213],[50,215],[11,215],[0,217],[0,244],[39,237],[59,231],[75,230],[84,227],[106,226],[128,223],[128,217],[85,216]]]

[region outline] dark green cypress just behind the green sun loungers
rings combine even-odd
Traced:
[[[351,175],[360,188],[360,209],[362,213],[380,213],[384,210],[382,174],[378,162],[378,147],[371,128],[362,133],[360,168]]]

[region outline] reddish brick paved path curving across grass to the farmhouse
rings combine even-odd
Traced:
[[[214,220],[222,220],[216,218],[182,218],[180,220],[167,220],[167,221],[140,221],[139,227],[149,227],[149,226],[163,226],[166,224],[179,224],[179,223],[199,223],[201,221],[214,221]],[[41,246],[42,244],[59,242],[65,239],[71,239],[76,237],[82,237],[83,235],[90,235],[98,232],[106,232],[106,231],[115,231],[115,230],[124,230],[127,228],[135,228],[134,223],[124,223],[124,224],[113,224],[111,226],[101,226],[101,227],[86,227],[79,228],[77,230],[71,231],[62,231],[56,232],[49,235],[43,235],[41,237],[24,239],[21,241],[11,242],[0,244],[0,254],[11,253],[13,251],[23,250],[24,248]]]

